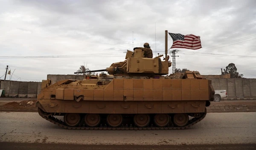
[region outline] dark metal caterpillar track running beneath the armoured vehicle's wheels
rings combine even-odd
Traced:
[[[38,113],[41,117],[48,120],[49,122],[52,122],[55,125],[58,125],[60,127],[63,127],[65,129],[69,130],[184,130],[192,125],[195,125],[196,123],[200,122],[207,114],[207,110],[205,109],[205,113],[200,118],[192,118],[189,120],[188,124],[183,127],[155,127],[154,125],[151,125],[151,127],[133,127],[132,125],[122,125],[122,127],[108,127],[107,125],[99,125],[99,127],[85,127],[85,124],[79,125],[79,127],[69,127],[65,125],[63,121],[60,119],[55,118],[50,113],[45,113],[43,110],[38,108]]]

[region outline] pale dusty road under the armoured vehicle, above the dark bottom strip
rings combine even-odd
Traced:
[[[0,112],[0,142],[180,145],[256,144],[256,113],[207,113],[187,130],[66,130],[38,113]]]

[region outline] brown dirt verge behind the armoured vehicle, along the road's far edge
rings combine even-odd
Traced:
[[[5,112],[37,112],[36,99],[0,99],[0,111]],[[218,112],[256,112],[256,100],[226,100],[211,102],[208,113]]]

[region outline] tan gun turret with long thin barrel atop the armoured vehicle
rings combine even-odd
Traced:
[[[172,62],[169,62],[169,56],[161,61],[159,55],[155,58],[146,58],[144,57],[144,51],[142,49],[134,49],[134,52],[127,50],[125,61],[116,62],[111,64],[110,67],[101,70],[95,71],[84,71],[84,72],[75,72],[78,73],[87,73],[87,72],[100,72],[108,71],[108,74],[113,74],[114,76],[124,75],[124,74],[136,74],[145,76],[147,75],[165,75],[169,74],[169,67],[172,65]]]

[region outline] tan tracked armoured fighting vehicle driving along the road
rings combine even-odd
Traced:
[[[167,40],[166,40],[167,41]],[[206,116],[213,101],[211,80],[187,71],[180,79],[169,73],[169,56],[145,58],[144,51],[127,51],[125,61],[98,70],[108,74],[83,80],[43,80],[38,113],[66,129],[169,130],[186,129]],[[62,120],[55,116],[64,116]],[[189,119],[190,116],[190,119]]]

